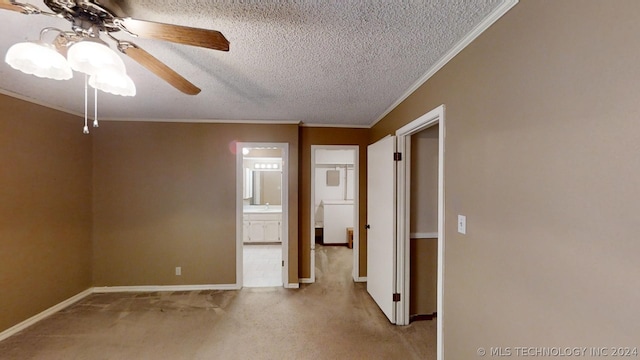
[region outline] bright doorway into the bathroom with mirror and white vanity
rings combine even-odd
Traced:
[[[236,285],[288,283],[288,144],[236,144]]]

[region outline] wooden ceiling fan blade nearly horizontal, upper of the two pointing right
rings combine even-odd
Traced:
[[[199,46],[213,50],[229,51],[229,41],[216,30],[157,23],[153,21],[121,19],[123,28],[135,35]]]

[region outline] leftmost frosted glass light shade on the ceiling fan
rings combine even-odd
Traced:
[[[43,42],[14,44],[7,51],[4,61],[25,74],[54,80],[68,80],[73,72],[67,60],[55,47]]]

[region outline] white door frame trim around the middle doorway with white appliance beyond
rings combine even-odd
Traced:
[[[315,259],[315,201],[316,201],[316,150],[318,149],[326,149],[326,150],[354,150],[355,157],[353,159],[353,172],[355,175],[353,190],[353,270],[352,277],[353,281],[361,282],[366,281],[366,278],[360,277],[359,269],[360,269],[360,146],[359,145],[311,145],[311,198],[310,198],[310,212],[309,212],[309,226],[311,228],[311,237],[310,237],[310,267],[311,271],[309,272],[309,279],[305,279],[305,283],[314,283],[316,282],[316,259]],[[364,279],[364,280],[363,280]]]

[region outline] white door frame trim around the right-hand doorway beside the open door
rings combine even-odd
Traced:
[[[430,126],[439,125],[438,134],[438,289],[437,289],[437,359],[444,359],[443,354],[443,295],[444,295],[444,141],[445,141],[445,106],[440,105],[416,120],[396,131],[397,148],[403,153],[402,161],[398,162],[398,193],[397,193],[397,291],[401,294],[401,301],[396,308],[397,325],[409,324],[409,214],[410,214],[410,181],[411,181],[411,135]]]

